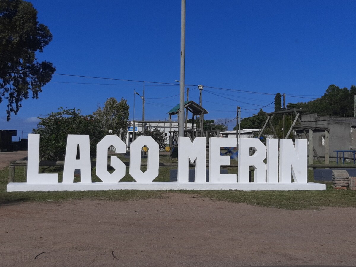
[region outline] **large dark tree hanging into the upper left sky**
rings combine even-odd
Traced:
[[[52,40],[48,27],[38,23],[37,10],[23,0],[0,1],[0,103],[7,100],[7,121],[22,100],[38,98],[56,68],[51,62],[37,62],[35,52]]]

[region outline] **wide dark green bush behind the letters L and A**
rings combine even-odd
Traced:
[[[41,121],[34,129],[40,133],[40,157],[47,160],[64,160],[67,146],[67,135],[89,135],[90,156],[95,158],[96,144],[105,136],[100,121],[93,115],[83,116],[80,110],[58,109]]]

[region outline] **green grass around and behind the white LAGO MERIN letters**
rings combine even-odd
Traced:
[[[120,156],[121,157],[121,156]],[[128,161],[121,157],[122,161]],[[147,159],[142,159],[147,161]],[[160,156],[160,162],[176,162],[176,159],[169,159],[169,156]],[[236,163],[231,161],[231,163]],[[142,167],[144,170],[145,167]],[[175,167],[160,167],[159,176],[156,182],[169,181],[169,169]],[[227,168],[228,173],[237,173],[237,168]],[[62,167],[41,167],[41,172],[59,173],[59,182],[62,180]],[[133,181],[126,169],[126,176],[121,182]],[[0,170],[0,205],[6,203],[16,203],[20,201],[65,201],[73,199],[99,199],[108,201],[138,200],[149,198],[163,198],[167,191],[146,191],[146,190],[105,190],[105,191],[76,191],[76,192],[6,192],[9,167]],[[94,182],[100,179],[92,171]],[[80,178],[74,178],[79,182]],[[24,167],[15,168],[15,182],[25,182]],[[313,171],[308,171],[308,182],[314,182]],[[192,194],[215,200],[230,201],[235,203],[246,203],[280,209],[318,209],[324,206],[335,207],[356,207],[356,191],[335,190],[331,188],[331,183],[327,183],[324,191],[239,191],[239,190],[178,190],[170,191],[177,193]]]

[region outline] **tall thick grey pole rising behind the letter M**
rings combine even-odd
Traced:
[[[180,102],[179,102],[179,136],[184,136],[184,59],[185,59],[185,0],[182,0],[180,12]]]

